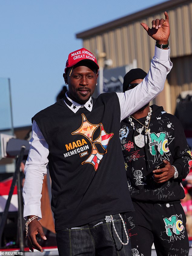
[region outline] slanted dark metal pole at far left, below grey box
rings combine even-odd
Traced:
[[[3,234],[4,228],[5,228],[5,223],[6,223],[6,220],[7,220],[7,215],[8,215],[8,210],[9,210],[11,198],[12,198],[13,191],[14,191],[14,188],[15,188],[15,184],[16,184],[16,181],[17,181],[17,178],[18,178],[18,173],[20,171],[19,169],[20,169],[21,161],[23,160],[25,148],[26,147],[24,145],[21,147],[21,150],[20,150],[20,153],[19,153],[19,156],[18,156],[18,160],[17,160],[17,163],[16,163],[15,173],[13,175],[11,188],[10,188],[10,191],[9,191],[9,195],[8,195],[8,198],[7,198],[7,202],[6,202],[6,205],[5,205],[4,212],[2,214],[2,219],[1,219],[1,223],[0,223],[0,227],[1,227],[1,229],[0,229],[0,247],[1,247],[2,234]],[[23,232],[23,230],[21,232]]]

